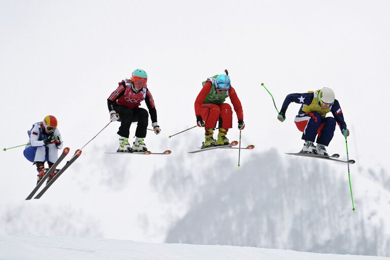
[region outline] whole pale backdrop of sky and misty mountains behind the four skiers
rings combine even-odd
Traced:
[[[23,147],[1,151],[2,238],[390,256],[389,7],[388,1],[1,1],[0,148],[26,143],[32,123],[52,114],[74,152],[108,123],[107,97],[117,82],[142,68],[162,129],[158,136],[148,132],[145,142],[152,151],[172,150],[104,154],[117,149],[112,123],[31,201],[24,199],[36,183],[35,166]],[[241,168],[236,150],[188,154],[201,143],[200,128],[167,138],[196,124],[201,82],[224,69],[244,109],[242,143],[256,146],[241,152]],[[335,90],[356,160],[355,213],[346,165],[284,154],[303,144],[293,122],[299,105],[291,104],[280,123],[263,82],[279,109],[288,93]],[[228,137],[237,140],[235,116],[233,127]],[[338,129],[328,151],[346,158]]]

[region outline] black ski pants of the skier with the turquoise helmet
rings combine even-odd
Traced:
[[[146,128],[148,127],[149,114],[144,108],[128,108],[124,106],[115,106],[114,110],[119,114],[120,126],[118,135],[128,138],[130,135],[130,126],[137,123],[136,137],[145,138]]]

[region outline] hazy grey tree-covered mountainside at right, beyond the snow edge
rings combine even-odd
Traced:
[[[218,171],[205,171],[209,178],[198,188],[189,188],[188,181],[182,184],[186,188],[175,187],[179,198],[181,190],[194,193],[165,242],[390,255],[385,172],[351,166],[353,213],[346,165],[275,150],[248,155],[240,169],[232,169],[232,161],[210,163],[209,169]],[[175,165],[185,167],[185,162]],[[180,173],[175,168],[161,171],[167,176],[158,176],[156,186],[165,187],[160,190],[169,190],[166,183]]]

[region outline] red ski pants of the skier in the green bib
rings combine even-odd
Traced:
[[[205,129],[215,128],[218,123],[218,127],[228,130],[232,128],[233,120],[232,107],[229,104],[202,104],[201,116],[205,121]]]

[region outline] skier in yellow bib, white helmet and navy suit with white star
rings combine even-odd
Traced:
[[[331,88],[324,87],[308,93],[288,94],[280,109],[279,121],[285,120],[287,107],[293,102],[302,105],[299,114],[295,117],[295,123],[299,131],[303,132],[302,139],[305,140],[301,152],[328,155],[325,146],[328,146],[333,138],[336,123],[344,137],[349,136],[343,112]],[[329,112],[332,112],[333,117],[325,117]],[[317,146],[314,145],[316,136]]]

